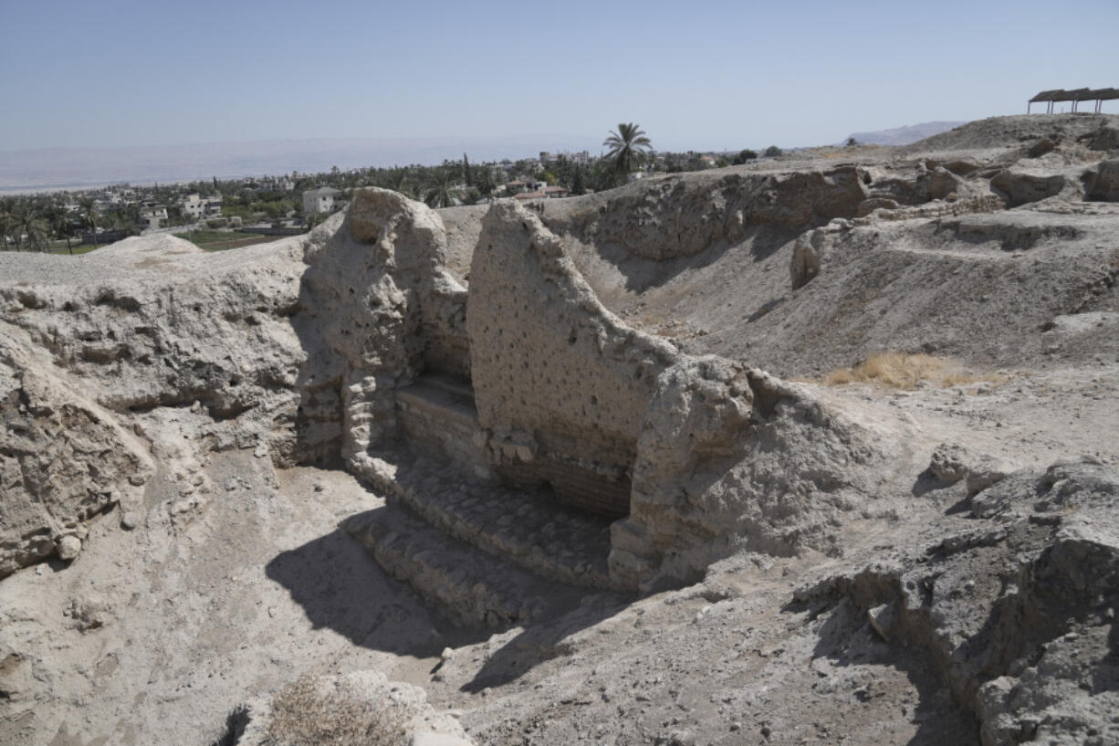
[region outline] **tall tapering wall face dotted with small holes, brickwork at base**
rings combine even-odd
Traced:
[[[602,307],[532,212],[495,204],[470,269],[471,366],[498,473],[561,498],[629,510],[630,469],[657,376],[679,353]]]

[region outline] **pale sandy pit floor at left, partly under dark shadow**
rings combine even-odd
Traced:
[[[4,665],[27,682],[0,700],[0,742],[208,743],[246,692],[304,672],[427,680],[454,630],[335,528],[375,495],[252,451],[207,473],[219,492],[195,513],[156,507],[133,531],[109,513],[70,567],[0,584],[0,640],[20,651]]]

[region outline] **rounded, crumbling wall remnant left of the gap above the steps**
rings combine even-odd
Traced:
[[[397,433],[395,389],[424,370],[469,376],[466,289],[443,269],[442,222],[386,189],[359,189],[311,236],[303,274],[307,335],[337,361],[342,457],[360,460]]]

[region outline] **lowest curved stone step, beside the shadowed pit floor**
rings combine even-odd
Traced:
[[[544,580],[451,539],[398,505],[351,516],[342,528],[382,568],[457,624],[505,627],[577,606],[583,588]]]

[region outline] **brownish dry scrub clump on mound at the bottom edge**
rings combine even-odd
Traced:
[[[323,687],[304,675],[272,701],[269,739],[274,746],[397,746],[411,714],[388,697],[369,701],[345,679]]]

